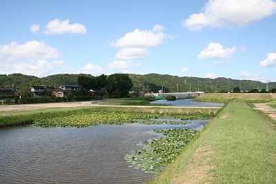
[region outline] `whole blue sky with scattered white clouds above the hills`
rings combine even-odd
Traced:
[[[1,0],[0,74],[276,81],[275,0]]]

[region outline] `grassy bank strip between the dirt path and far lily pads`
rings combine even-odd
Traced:
[[[21,124],[31,124],[35,120],[40,119],[52,119],[65,117],[77,114],[92,114],[94,112],[136,112],[139,114],[178,114],[179,116],[185,117],[183,119],[209,119],[215,116],[217,110],[213,109],[180,109],[180,108],[129,108],[129,107],[78,107],[78,108],[48,108],[45,110],[34,110],[26,112],[1,112],[0,116],[0,127],[11,126],[11,125],[21,125]],[[3,116],[3,114],[8,114],[8,116]],[[181,117],[180,117],[181,118]],[[132,120],[133,121],[133,120]],[[139,119],[139,121],[142,121]],[[77,125],[76,125],[77,126]]]

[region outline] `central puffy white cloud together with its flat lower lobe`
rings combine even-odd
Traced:
[[[116,54],[117,59],[130,60],[146,57],[148,49],[160,45],[166,38],[164,25],[155,25],[152,30],[135,29],[128,32],[115,41],[110,46],[121,48]]]

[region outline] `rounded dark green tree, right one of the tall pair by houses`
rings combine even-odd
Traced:
[[[111,74],[106,79],[106,90],[114,98],[128,96],[133,83],[128,74]]]

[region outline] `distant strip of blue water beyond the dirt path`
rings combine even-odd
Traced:
[[[209,102],[199,102],[193,101],[193,99],[180,99],[177,101],[166,101],[166,100],[158,100],[152,101],[150,103],[163,103],[166,105],[172,105],[177,107],[222,107],[223,103],[209,103]]]

